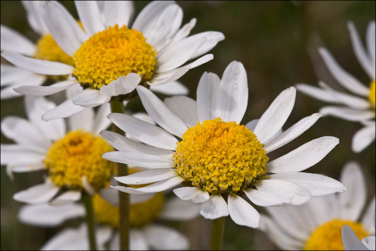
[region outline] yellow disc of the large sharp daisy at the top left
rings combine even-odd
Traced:
[[[97,89],[130,72],[145,81],[154,73],[155,56],[141,32],[116,24],[82,43],[73,54],[73,75],[82,86]]]

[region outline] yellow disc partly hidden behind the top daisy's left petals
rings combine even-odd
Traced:
[[[36,52],[34,57],[37,59],[62,62],[74,66],[73,58],[66,54],[57,45],[49,33],[40,37],[36,42]]]

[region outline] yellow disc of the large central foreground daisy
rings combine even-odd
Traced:
[[[189,127],[173,156],[177,173],[210,194],[242,191],[268,160],[251,130],[219,117]]]

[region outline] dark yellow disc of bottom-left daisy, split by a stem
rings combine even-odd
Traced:
[[[155,193],[150,199],[129,208],[129,222],[131,227],[142,227],[154,221],[158,216],[164,202],[162,192]],[[99,223],[117,227],[119,224],[119,208],[108,203],[98,194],[92,197],[95,218]]]

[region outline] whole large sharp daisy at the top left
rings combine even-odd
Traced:
[[[131,98],[138,84],[170,83],[189,69],[211,60],[213,55],[205,53],[224,39],[216,31],[188,36],[195,19],[179,28],[183,12],[174,1],[150,2],[131,26],[133,8],[129,1],[105,1],[102,12],[96,1],[75,1],[75,5],[84,30],[60,3],[40,3],[44,23],[56,43],[73,58],[73,66],[13,51],[1,53],[14,65],[36,73],[75,77],[73,81],[50,86],[18,87],[15,90],[19,93],[41,96],[75,83],[84,87],[82,92],[43,114],[43,120],[63,117],[58,110],[67,110],[73,115],[83,107],[107,103],[112,97]],[[184,64],[196,57],[195,61]]]

